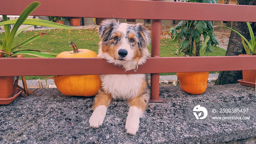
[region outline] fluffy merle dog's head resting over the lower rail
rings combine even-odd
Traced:
[[[127,71],[143,64],[150,55],[150,32],[142,24],[119,23],[115,19],[104,20],[98,29],[98,57],[124,67]]]

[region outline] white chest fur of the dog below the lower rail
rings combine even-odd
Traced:
[[[146,75],[101,75],[100,77],[103,90],[110,93],[113,99],[127,100],[138,95]]]

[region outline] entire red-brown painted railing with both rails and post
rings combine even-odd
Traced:
[[[34,0],[2,0],[1,15],[19,15]],[[159,99],[159,73],[256,69],[253,57],[159,57],[160,20],[256,22],[256,6],[144,0],[38,0],[31,15],[153,19],[151,58],[136,73],[153,73],[151,99]],[[74,8],[75,6],[75,8]],[[15,67],[12,67],[16,65]],[[29,65],[29,68],[26,67]],[[100,58],[0,58],[0,76],[128,74]]]

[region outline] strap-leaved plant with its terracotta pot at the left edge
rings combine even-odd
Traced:
[[[48,27],[56,27],[60,29],[74,29],[69,26],[64,26],[62,24],[49,22],[47,20],[41,20],[41,19],[26,19],[31,12],[33,12],[38,6],[39,2],[33,2],[31,3],[19,16],[18,19],[14,20],[7,20],[7,15],[3,15],[3,22],[0,22],[0,26],[4,26],[5,35],[3,41],[0,40],[1,50],[0,50],[0,58],[11,58],[11,57],[17,57],[20,54],[22,55],[32,55],[37,57],[55,57],[57,54],[49,53],[44,50],[28,50],[28,49],[18,49],[21,46],[25,45],[26,43],[29,43],[33,41],[34,39],[37,39],[41,37],[42,35],[45,35],[46,33],[36,34],[33,37],[27,39],[26,41],[20,43],[17,46],[12,47],[12,43],[14,42],[14,38],[16,35],[18,35],[21,31],[31,27],[27,26],[20,30],[18,28],[21,24],[29,24],[29,25],[41,25],[41,26],[48,26]],[[10,24],[14,24],[14,27],[12,28],[12,31],[10,31]],[[10,66],[11,67],[11,66]],[[7,68],[5,68],[7,69]],[[22,79],[24,82],[24,79]],[[18,80],[15,82],[16,85],[18,84]],[[0,104],[9,104],[12,102],[17,96],[13,96],[17,93],[17,88],[15,87],[14,83],[14,77],[5,77],[0,76]],[[26,84],[23,83],[24,88],[26,88]],[[8,91],[8,92],[4,92]],[[11,91],[11,92],[10,92]],[[30,93],[30,91],[25,90],[26,94]],[[8,100],[6,102],[5,100]]]

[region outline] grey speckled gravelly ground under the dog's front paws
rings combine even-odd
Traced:
[[[180,86],[161,85],[164,103],[150,103],[135,136],[125,133],[128,104],[109,105],[100,128],[90,128],[93,97],[67,97],[56,88],[39,89],[0,105],[0,143],[234,143],[256,142],[256,120],[246,123],[190,123],[188,102],[251,102],[254,88],[240,84],[208,84],[204,94],[191,95]],[[210,113],[210,112],[208,112]]]

